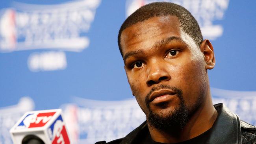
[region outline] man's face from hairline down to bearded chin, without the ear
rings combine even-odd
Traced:
[[[208,86],[204,55],[176,16],[152,17],[126,28],[121,46],[128,82],[147,118],[171,116],[181,105],[193,113],[203,102]]]

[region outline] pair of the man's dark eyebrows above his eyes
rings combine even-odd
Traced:
[[[154,49],[154,48],[160,48],[161,46],[173,41],[173,40],[176,40],[176,41],[180,41],[180,42],[184,42],[180,37],[167,37],[165,39],[162,39],[160,41],[157,41],[154,46],[150,49]],[[130,52],[127,52],[125,55],[124,55],[124,62],[126,61],[126,59],[130,56],[133,56],[133,55],[137,55],[137,54],[144,54],[144,51],[143,50],[135,50],[135,51],[130,51]]]

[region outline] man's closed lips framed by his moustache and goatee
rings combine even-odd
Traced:
[[[176,92],[169,89],[156,90],[149,96],[149,102],[164,102],[169,100],[170,96],[175,94]]]

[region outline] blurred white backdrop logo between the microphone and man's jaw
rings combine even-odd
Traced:
[[[146,120],[135,99],[98,101],[74,98],[74,103],[63,105],[61,109],[72,140],[76,140],[72,137],[76,136],[80,144],[124,137]]]

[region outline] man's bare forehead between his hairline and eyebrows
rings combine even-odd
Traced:
[[[147,47],[152,46],[154,41],[167,37],[180,37],[180,31],[180,22],[176,16],[152,17],[142,22],[137,22],[122,32],[122,51],[124,52],[127,47],[130,49],[134,44],[142,44]]]

